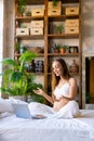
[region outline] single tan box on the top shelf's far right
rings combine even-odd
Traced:
[[[66,12],[65,12],[66,15],[78,15],[79,14],[79,7],[69,7],[69,8],[66,8]]]

